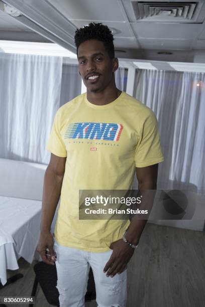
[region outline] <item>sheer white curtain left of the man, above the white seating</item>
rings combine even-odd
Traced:
[[[49,162],[61,77],[61,57],[0,53],[1,158]]]

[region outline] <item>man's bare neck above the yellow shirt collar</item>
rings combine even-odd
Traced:
[[[120,91],[115,84],[115,86],[108,86],[100,92],[87,91],[87,100],[96,105],[105,105],[116,100],[121,93],[122,91]]]

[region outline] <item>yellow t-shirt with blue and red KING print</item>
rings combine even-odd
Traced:
[[[162,162],[157,119],[142,102],[122,92],[94,105],[81,94],[61,106],[47,149],[67,157],[55,238],[64,246],[108,251],[129,220],[79,220],[79,190],[132,189],[136,167]]]

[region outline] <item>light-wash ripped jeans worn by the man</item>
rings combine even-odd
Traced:
[[[127,299],[127,269],[114,277],[107,277],[103,269],[112,250],[88,252],[58,244],[55,240],[57,288],[60,307],[84,307],[88,273],[91,266],[98,307],[125,307]]]

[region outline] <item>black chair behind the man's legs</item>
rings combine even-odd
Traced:
[[[57,285],[56,266],[49,265],[43,261],[40,261],[34,265],[34,271],[36,273],[36,277],[34,280],[31,296],[36,295],[36,290],[39,282],[48,303],[54,306],[60,306],[58,299],[59,292],[58,289],[56,288]],[[85,301],[89,301],[95,298],[96,294],[95,294],[94,277],[92,270],[90,268],[88,283],[87,283],[87,292],[85,294]],[[29,307],[31,306],[33,306],[32,303],[29,304]]]

